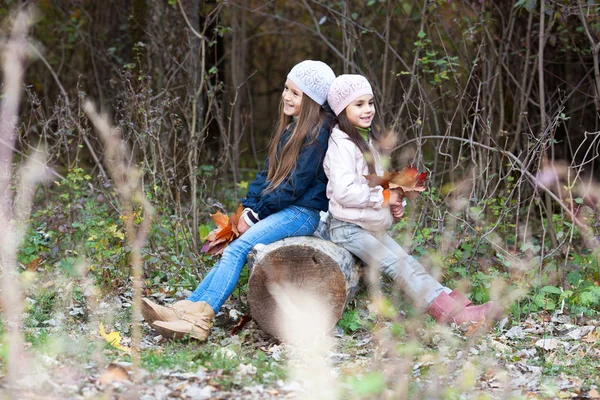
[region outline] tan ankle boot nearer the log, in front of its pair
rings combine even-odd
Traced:
[[[200,301],[187,308],[177,321],[156,321],[152,326],[165,338],[181,339],[189,336],[203,342],[210,335],[214,318],[213,309]]]

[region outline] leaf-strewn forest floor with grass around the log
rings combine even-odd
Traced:
[[[78,298],[68,285],[56,287],[26,300],[32,305],[24,320],[29,373],[18,388],[7,387],[2,376],[2,398],[319,397],[290,373],[301,350],[253,321],[232,334],[246,309],[244,296],[226,303],[207,343],[165,340],[144,322],[140,383],[134,385],[131,293],[90,305],[85,293]],[[52,310],[44,313],[49,299]],[[320,379],[338,398],[600,398],[598,319],[539,313],[507,317],[490,329],[459,329],[402,316],[398,323],[369,309],[366,296],[359,296],[356,325],[346,332],[338,326],[325,356],[329,376]]]

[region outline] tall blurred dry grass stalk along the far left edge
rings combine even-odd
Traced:
[[[13,151],[16,122],[21,101],[27,34],[33,13],[20,12],[14,19],[8,42],[3,46],[3,89],[0,107],[0,265],[2,267],[2,309],[8,346],[8,386],[27,375],[23,348],[21,312],[23,299],[17,271],[17,249],[25,232],[36,183],[43,178],[45,155],[36,151],[18,171],[17,190],[13,190]],[[39,164],[37,164],[39,163]]]

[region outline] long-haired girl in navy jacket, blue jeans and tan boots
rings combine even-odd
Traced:
[[[227,246],[187,300],[169,307],[142,301],[144,319],[163,337],[206,340],[250,250],[290,236],[312,235],[317,228],[319,211],[327,210],[328,204],[323,159],[334,118],[326,104],[334,78],[329,66],[312,60],[297,64],[288,74],[269,157],[242,202],[241,236]]]

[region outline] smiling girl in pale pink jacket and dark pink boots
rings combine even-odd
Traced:
[[[384,172],[381,155],[373,146],[375,106],[367,79],[338,76],[327,101],[338,117],[323,163],[329,178],[331,240],[393,278],[417,307],[440,323],[500,319],[501,307],[492,302],[474,306],[464,294],[442,286],[386,233],[404,208],[397,192],[369,187],[364,177]]]

